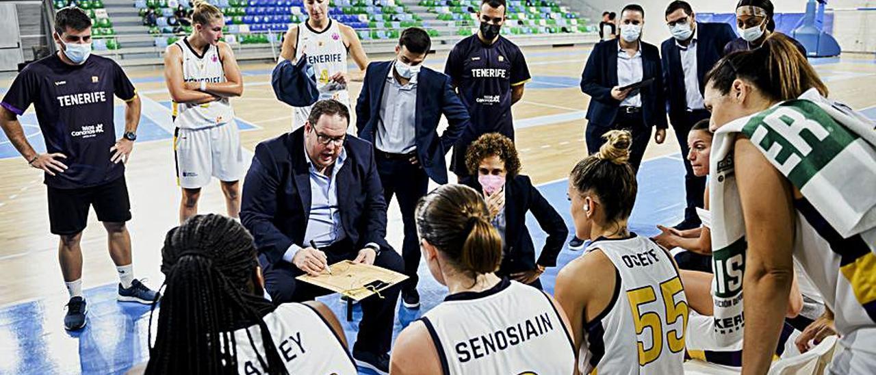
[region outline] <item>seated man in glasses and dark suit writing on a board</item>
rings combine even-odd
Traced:
[[[295,278],[330,272],[328,265],[343,259],[404,271],[385,240],[386,203],[371,145],[347,136],[349,124],[346,106],[320,101],[303,127],[256,146],[240,217],[255,239],[265,290],[274,303],[330,294]],[[353,346],[357,364],[389,372],[399,289],[362,301]]]

